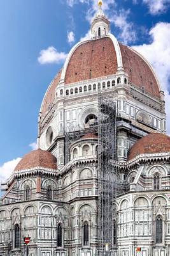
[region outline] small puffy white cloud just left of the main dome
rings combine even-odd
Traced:
[[[38,61],[40,64],[60,63],[66,60],[66,57],[67,54],[65,52],[58,52],[55,47],[50,46],[39,52]]]

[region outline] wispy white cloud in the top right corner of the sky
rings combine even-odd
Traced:
[[[143,3],[148,5],[151,14],[157,15],[166,12],[170,0],[143,0]]]

